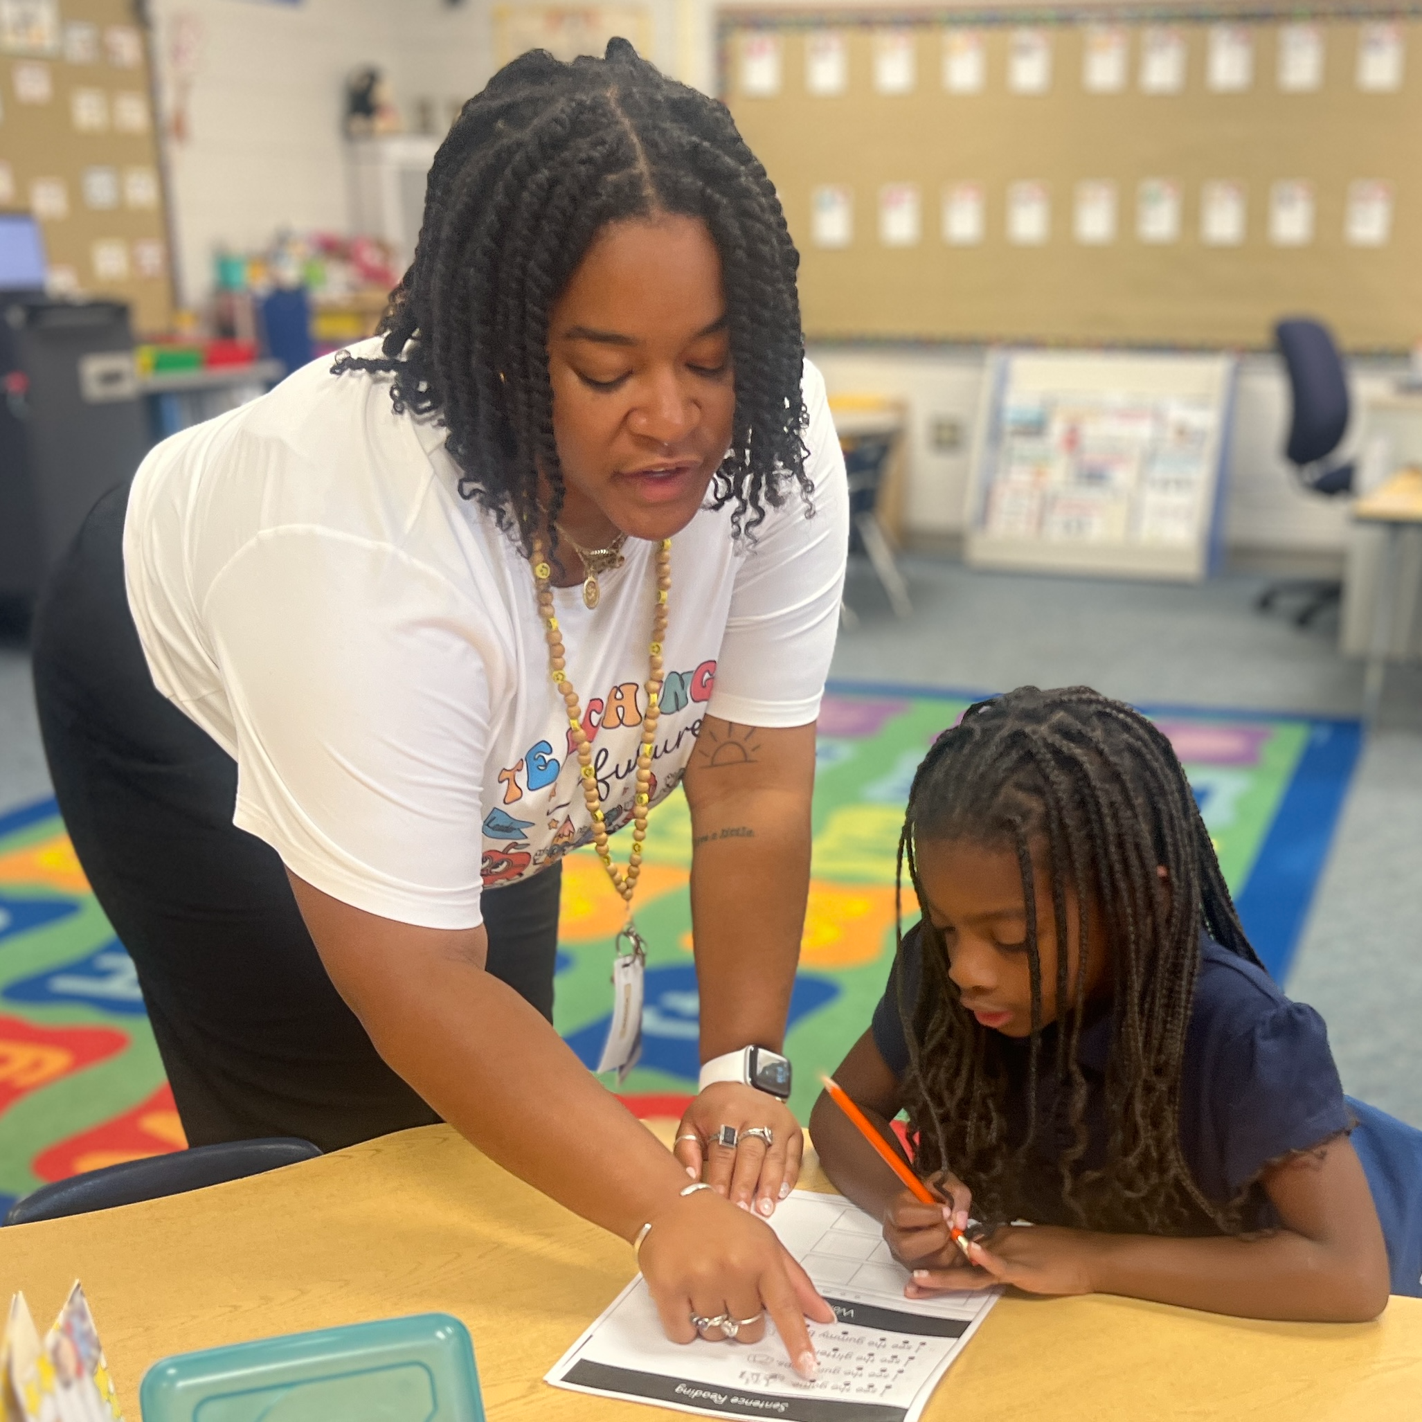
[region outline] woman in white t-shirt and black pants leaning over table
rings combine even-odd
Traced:
[[[768,1313],[811,1371],[832,1315],[764,1216],[848,503],[796,264],[722,105],[626,41],[525,54],[441,145],[383,334],[161,444],[34,654],[193,1145],[444,1118],[636,1241],[673,1338]],[[677,785],[705,1068],[673,1155],[550,1018],[562,855],[634,910]]]

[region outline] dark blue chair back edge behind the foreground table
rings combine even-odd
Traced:
[[[297,1136],[270,1136],[262,1140],[223,1140],[215,1146],[193,1146],[146,1160],[125,1160],[102,1170],[41,1185],[38,1190],[16,1200],[6,1224],[33,1224],[36,1220],[60,1220],[68,1214],[111,1210],[117,1204],[138,1204],[165,1194],[183,1194],[206,1185],[225,1185],[249,1175],[262,1175],[297,1160],[310,1160],[321,1152]]]

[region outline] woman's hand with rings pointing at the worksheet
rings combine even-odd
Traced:
[[[815,1376],[805,1318],[832,1324],[835,1311],[762,1220],[714,1190],[678,1196],[651,1217],[638,1263],[673,1342],[759,1342],[769,1317],[795,1371]]]

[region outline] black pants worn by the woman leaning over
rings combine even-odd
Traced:
[[[124,593],[127,502],[127,486],[100,499],[50,579],[34,690],[65,826],[138,967],[188,1140],[334,1150],[428,1125],[326,975],[282,860],[233,826],[236,762],[154,688]],[[545,1017],[560,877],[483,896],[489,971]]]

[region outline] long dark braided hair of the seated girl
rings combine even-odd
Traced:
[[[1038,1109],[1049,1071],[1071,1130],[1071,1145],[1058,1155],[1061,1197],[1078,1224],[1194,1233],[1203,1214],[1214,1227],[1237,1233],[1241,1202],[1223,1209],[1209,1202],[1180,1153],[1180,1071],[1200,930],[1250,963],[1258,957],[1169,739],[1138,711],[1088,687],[1020,687],[970,707],[934,741],[913,779],[899,839],[900,953],[903,870],[921,904],[919,862],[936,840],[1004,848],[1015,856],[1027,913],[1032,1032],[1025,1138],[1014,1142],[1004,1039],[964,1010],[948,978],[947,948],[924,914],[917,1000],[900,1000],[910,1055],[904,1099],[923,1172],[957,1173],[984,1219],[1024,1213],[1034,1145],[1055,1129]],[[1088,1145],[1086,1084],[1076,1061],[1086,1003],[1084,971],[1068,981],[1065,951],[1057,954],[1055,1051],[1042,1051],[1041,877],[1055,941],[1066,944],[1068,929],[1075,927],[1084,968],[1095,919],[1109,946],[1113,1035],[1101,1170],[1076,1169]],[[906,977],[897,974],[900,998]],[[1042,1061],[1044,1055],[1052,1059]]]

